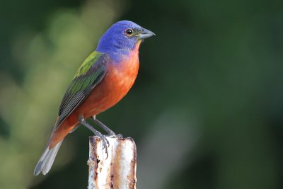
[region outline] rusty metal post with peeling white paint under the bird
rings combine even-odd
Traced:
[[[88,189],[136,189],[137,148],[132,138],[109,141],[108,158],[98,137],[89,137]]]

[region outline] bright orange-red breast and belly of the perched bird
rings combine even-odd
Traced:
[[[120,65],[118,68],[109,65],[108,72],[103,80],[93,89],[86,100],[76,108],[74,114],[90,118],[92,115],[98,115],[115,105],[132,88],[137,78],[138,69],[138,59],[135,62],[127,62],[127,65]]]

